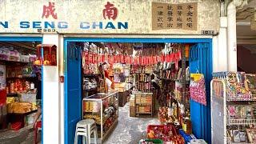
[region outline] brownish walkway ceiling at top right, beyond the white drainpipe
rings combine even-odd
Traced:
[[[238,44],[256,44],[256,30],[251,30],[250,21],[254,18],[256,0],[249,0],[248,5],[237,10]]]

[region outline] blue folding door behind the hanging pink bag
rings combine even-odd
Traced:
[[[206,106],[190,100],[192,130],[198,138],[210,143],[210,80],[212,78],[212,50],[210,43],[198,43],[190,47],[190,73],[204,74],[206,80]],[[198,113],[199,112],[199,113]]]

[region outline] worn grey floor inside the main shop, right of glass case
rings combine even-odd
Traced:
[[[146,138],[146,126],[159,124],[158,118],[142,115],[139,118],[129,116],[129,103],[119,107],[118,125],[110,134],[104,144],[135,144],[140,139]]]

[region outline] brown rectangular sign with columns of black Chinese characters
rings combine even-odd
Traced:
[[[198,4],[152,2],[152,30],[197,30]]]

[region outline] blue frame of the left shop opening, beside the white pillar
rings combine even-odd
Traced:
[[[1,37],[0,42],[41,42],[42,37]],[[42,66],[43,68],[43,66]],[[43,78],[43,70],[42,70],[42,78]],[[42,80],[42,93],[43,93],[43,80]],[[42,115],[43,115],[43,94],[42,94]],[[43,117],[42,117],[43,121]],[[42,125],[42,143],[43,143],[43,125]]]

